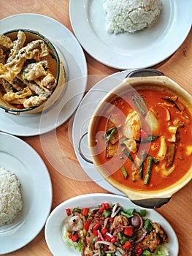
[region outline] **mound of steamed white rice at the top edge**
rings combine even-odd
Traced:
[[[161,0],[104,0],[106,29],[110,33],[145,29],[161,13]]]

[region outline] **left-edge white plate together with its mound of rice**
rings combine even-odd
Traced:
[[[52,185],[45,163],[23,140],[0,132],[0,255],[32,241],[45,225]]]

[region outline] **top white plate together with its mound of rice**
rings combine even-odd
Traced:
[[[94,59],[136,69],[164,61],[182,45],[191,29],[190,8],[190,0],[70,0],[69,16]]]

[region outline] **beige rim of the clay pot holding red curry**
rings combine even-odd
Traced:
[[[127,195],[131,200],[140,200],[140,199],[148,199],[148,198],[155,198],[155,197],[172,197],[175,192],[185,187],[188,182],[192,179],[192,165],[191,168],[185,173],[185,175],[180,178],[178,181],[174,182],[174,184],[170,185],[169,187],[166,187],[164,189],[156,189],[156,190],[137,190],[137,189],[131,189],[126,186],[122,186],[120,183],[116,182],[110,176],[107,176],[107,173],[105,173],[104,168],[101,167],[101,165],[98,165],[99,161],[96,158],[94,154],[93,149],[93,127],[96,123],[97,118],[99,118],[99,113],[101,113],[104,102],[111,102],[112,98],[114,98],[114,94],[117,95],[118,92],[120,92],[120,95],[123,94],[123,88],[127,85],[130,85],[132,87],[137,85],[136,87],[142,87],[141,85],[138,85],[138,81],[141,84],[147,84],[147,83],[158,83],[158,87],[167,88],[169,87],[169,91],[177,91],[177,94],[179,94],[183,99],[187,98],[188,102],[191,102],[192,95],[186,91],[183,87],[181,87],[178,83],[174,82],[171,78],[166,77],[166,75],[163,76],[153,76],[153,77],[138,77],[138,78],[125,78],[123,82],[118,84],[114,89],[109,91],[103,99],[101,99],[101,102],[99,102],[99,105],[96,107],[96,110],[94,111],[93,115],[91,116],[90,123],[88,125],[88,146],[89,151],[91,153],[91,159],[93,161],[93,164],[95,165],[96,169],[99,170],[99,173],[101,173],[101,176],[107,180],[112,186],[114,186],[116,189],[119,189],[121,192],[123,192],[125,195]],[[135,88],[135,87],[134,87]],[[119,95],[119,94],[118,94]],[[192,107],[191,107],[192,108]],[[191,110],[192,111],[192,110]],[[105,173],[105,175],[104,175]]]

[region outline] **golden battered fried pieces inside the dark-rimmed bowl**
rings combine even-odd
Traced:
[[[0,93],[7,107],[42,105],[57,83],[53,51],[40,37],[30,36],[35,37],[18,31],[12,41],[7,35],[0,35]]]

